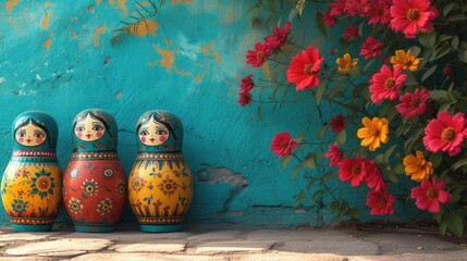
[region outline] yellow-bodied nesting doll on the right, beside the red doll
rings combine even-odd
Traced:
[[[183,126],[167,111],[149,111],[136,126],[138,153],[128,177],[130,206],[143,232],[174,232],[193,198],[182,153]]]

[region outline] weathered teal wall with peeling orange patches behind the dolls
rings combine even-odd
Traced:
[[[112,45],[114,30],[123,25],[120,21],[137,15],[135,2],[0,3],[1,169],[11,153],[11,123],[21,112],[41,110],[57,120],[58,157],[64,170],[74,116],[99,108],[118,121],[119,152],[128,172],[136,157],[137,119],[145,111],[163,109],[184,122],[184,154],[195,181],[191,222],[329,224],[332,215],[309,201],[302,209],[293,208],[293,196],[305,187],[304,181],[292,179],[269,150],[278,132],[291,129],[296,136],[303,129],[314,137],[322,125],[316,113],[309,113],[314,107],[306,102],[283,110],[263,107],[258,119],[256,107],[241,108],[236,102],[243,76],[269,73],[245,64],[246,50],[270,32],[251,27],[246,11],[253,1],[171,0],[153,16],[149,32],[144,32],[145,26],[139,36],[122,37]],[[312,26],[307,32],[319,34]],[[324,116],[333,112],[324,110]],[[364,208],[367,190],[346,185],[330,184]],[[2,209],[0,221],[9,224]],[[123,223],[132,222],[127,209]]]

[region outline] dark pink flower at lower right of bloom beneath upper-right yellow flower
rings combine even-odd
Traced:
[[[421,115],[427,110],[430,94],[427,89],[415,89],[414,94],[407,92],[401,96],[401,103],[395,108],[406,120]]]

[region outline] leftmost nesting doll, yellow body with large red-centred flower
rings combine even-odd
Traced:
[[[14,120],[12,134],[13,153],[1,183],[3,207],[14,231],[51,231],[62,194],[57,123],[44,112],[28,111]]]

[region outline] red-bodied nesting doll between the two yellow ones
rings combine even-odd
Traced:
[[[77,232],[113,232],[126,200],[115,120],[85,110],[73,122],[73,152],[63,175],[63,204]]]

